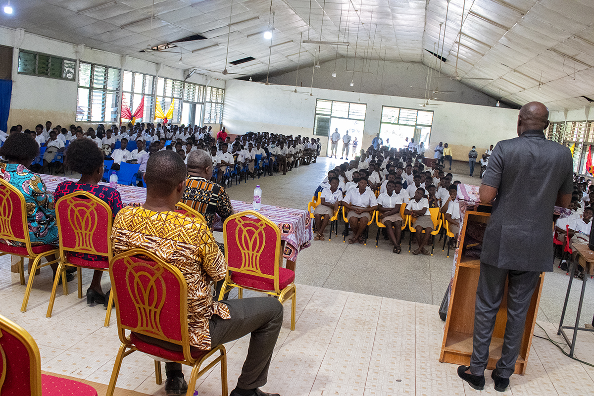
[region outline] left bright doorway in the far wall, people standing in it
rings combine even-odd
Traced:
[[[326,156],[331,153],[330,137],[338,128],[340,140],[336,150],[336,157],[353,159],[361,150],[363,130],[365,127],[365,112],[367,105],[364,103],[337,102],[336,100],[318,99],[315,103],[314,135],[327,139]],[[343,155],[343,136],[346,132],[350,135],[348,151]],[[356,153],[353,151],[353,142],[357,143]]]

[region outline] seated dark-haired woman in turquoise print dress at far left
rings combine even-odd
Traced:
[[[17,188],[25,197],[27,225],[31,245],[58,246],[58,227],[56,211],[53,207],[53,194],[48,192],[45,183],[36,173],[27,169],[39,155],[39,144],[27,134],[12,134],[0,148],[0,156],[8,161],[0,164],[0,176]],[[1,240],[11,246],[24,246],[22,242]],[[51,261],[52,256],[48,256]],[[29,268],[33,261],[29,261]],[[58,264],[51,265],[54,274]],[[68,274],[68,280],[74,275]]]

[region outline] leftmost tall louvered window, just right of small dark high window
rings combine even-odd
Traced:
[[[77,121],[118,121],[121,69],[80,62]]]

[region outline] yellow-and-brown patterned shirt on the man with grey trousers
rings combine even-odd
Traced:
[[[125,207],[115,217],[113,254],[142,248],[179,268],[188,284],[188,332],[190,344],[210,350],[208,319],[229,319],[229,308],[213,301],[207,277],[222,280],[227,262],[214,243],[206,224],[177,212],[154,212]]]

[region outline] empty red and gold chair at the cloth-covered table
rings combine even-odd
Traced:
[[[223,239],[229,267],[219,300],[233,287],[239,289],[240,299],[243,289],[271,294],[280,303],[290,299],[291,330],[295,330],[295,272],[282,267],[279,227],[260,213],[248,210],[225,220]]]

